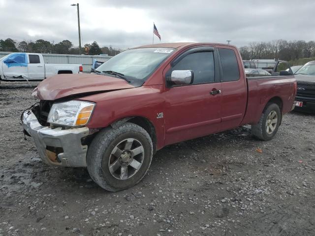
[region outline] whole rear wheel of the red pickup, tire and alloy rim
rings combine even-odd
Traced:
[[[252,135],[263,141],[268,141],[276,135],[282,119],[280,108],[275,103],[267,104],[259,122],[252,125]]]

